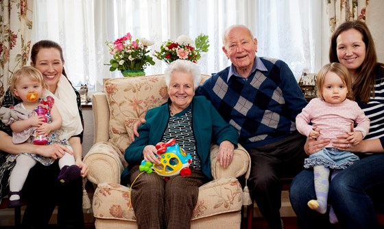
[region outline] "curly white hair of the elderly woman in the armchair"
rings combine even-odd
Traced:
[[[191,74],[193,78],[193,87],[195,87],[195,89],[202,80],[202,75],[200,74],[200,69],[197,64],[185,59],[176,59],[174,62],[171,62],[171,64],[169,64],[168,68],[164,72],[165,84],[168,88],[169,84],[171,83],[171,77],[175,72]]]

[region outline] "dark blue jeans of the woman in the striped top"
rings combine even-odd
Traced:
[[[328,213],[321,215],[307,206],[315,199],[313,170],[304,170],[291,183],[289,198],[299,228],[332,228]],[[342,228],[379,228],[375,207],[383,204],[384,154],[361,158],[332,180],[328,202]]]

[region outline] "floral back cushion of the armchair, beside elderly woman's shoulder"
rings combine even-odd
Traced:
[[[167,101],[167,87],[162,75],[132,77],[106,81],[104,90],[110,111],[109,142],[124,153],[131,142],[125,120],[145,116],[149,108]]]

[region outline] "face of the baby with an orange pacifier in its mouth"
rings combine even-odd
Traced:
[[[43,93],[43,89],[40,82],[34,81],[28,76],[22,76],[15,83],[14,94],[23,100],[24,105],[34,105],[39,103],[38,98]]]

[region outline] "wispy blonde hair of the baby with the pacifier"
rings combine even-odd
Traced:
[[[23,66],[13,73],[11,79],[10,90],[15,98],[20,99],[19,96],[16,96],[14,94],[14,90],[16,89],[16,83],[19,83],[22,77],[29,77],[29,79],[31,79],[32,81],[40,83],[45,89],[49,89],[47,83],[45,83],[44,81],[43,75],[41,75],[41,72],[39,70],[32,66]]]

